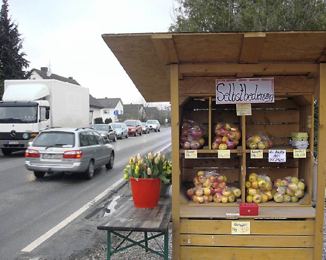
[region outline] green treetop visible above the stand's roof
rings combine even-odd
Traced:
[[[326,29],[325,0],[176,0],[170,32]]]

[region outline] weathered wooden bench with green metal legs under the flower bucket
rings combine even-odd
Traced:
[[[130,199],[125,204],[121,205],[117,211],[108,217],[108,219],[98,229],[107,230],[107,259],[111,259],[111,255],[116,252],[128,249],[132,246],[140,246],[146,251],[153,252],[168,260],[169,255],[169,223],[172,216],[171,196],[162,196],[159,199],[156,208],[135,208],[133,201]],[[127,231],[128,235],[123,235],[119,232]],[[144,233],[144,239],[134,241],[129,238],[133,232]],[[148,237],[150,232],[150,237]],[[152,234],[158,233],[158,234]],[[111,250],[111,234],[121,237],[123,241]],[[164,236],[164,251],[157,251],[148,247],[148,241]],[[122,246],[125,241],[131,244]]]

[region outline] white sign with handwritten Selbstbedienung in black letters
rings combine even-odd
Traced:
[[[216,104],[274,103],[274,78],[216,79]]]

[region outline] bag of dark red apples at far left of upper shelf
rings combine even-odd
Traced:
[[[206,134],[206,129],[203,124],[185,120],[181,126],[180,145],[184,149],[200,149],[205,144],[203,138]]]

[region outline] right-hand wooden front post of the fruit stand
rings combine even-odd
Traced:
[[[326,168],[326,64],[320,64],[319,70],[319,125],[318,125],[318,164],[317,164],[317,197],[314,259],[322,259],[322,237],[324,221],[325,168]]]

